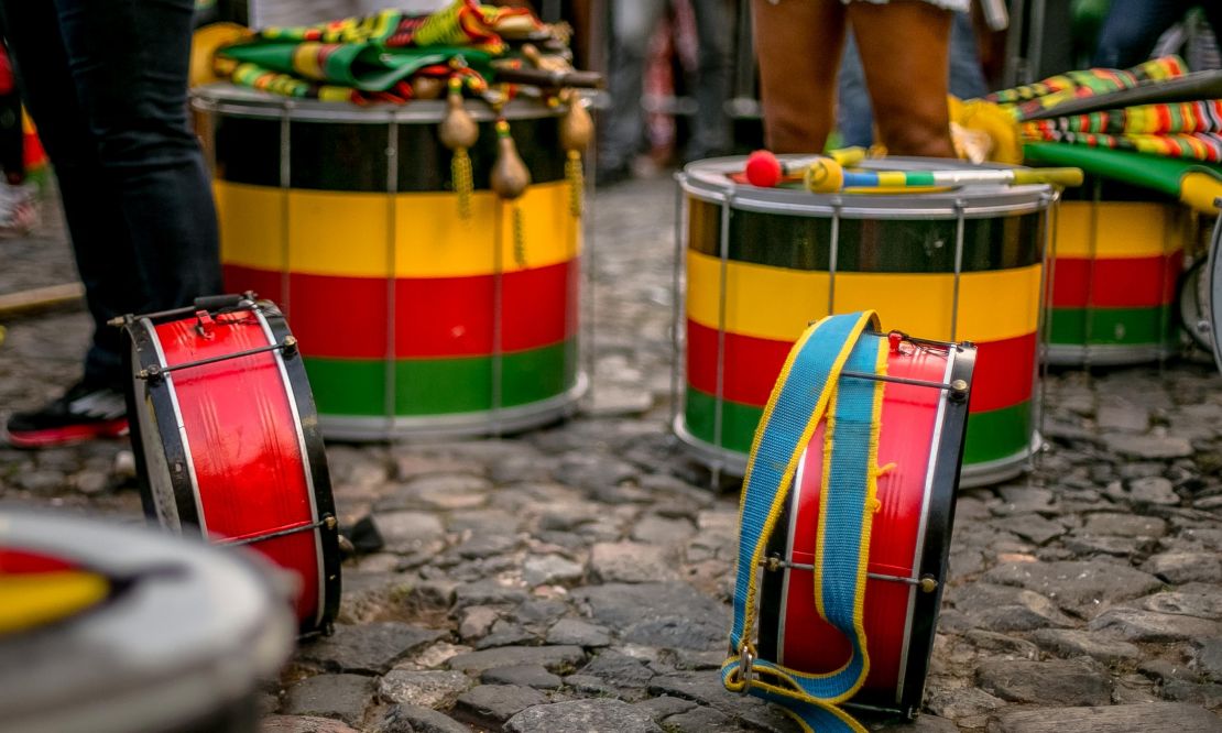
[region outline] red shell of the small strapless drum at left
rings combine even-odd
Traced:
[[[166,365],[268,346],[249,314],[216,325],[209,337],[194,319],[156,326]],[[240,324],[240,325],[235,325]],[[298,430],[275,356],[260,353],[175,371],[170,377],[182,413],[203,512],[214,538],[248,538],[310,524],[313,498]],[[297,617],[318,614],[315,533],[301,531],[252,545],[298,575]]]

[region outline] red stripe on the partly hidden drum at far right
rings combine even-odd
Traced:
[[[1184,255],[1057,258],[1051,268],[1052,307],[1150,308],[1176,299]]]

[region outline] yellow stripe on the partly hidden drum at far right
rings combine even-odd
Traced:
[[[1061,202],[1057,257],[1121,259],[1169,254],[1184,244],[1177,204]],[[1091,209],[1095,209],[1092,213]],[[1091,219],[1096,236],[1091,247]]]

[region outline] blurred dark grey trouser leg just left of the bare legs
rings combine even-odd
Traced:
[[[731,32],[734,11],[726,0],[692,0],[695,15],[700,61],[695,75],[697,115],[692,123],[692,139],[687,159],[697,160],[730,151]]]

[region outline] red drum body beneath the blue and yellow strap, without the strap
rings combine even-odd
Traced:
[[[909,717],[920,709],[946,580],[968,418],[964,396],[975,359],[971,345],[920,340],[893,343],[887,359],[879,465],[890,468],[879,476],[864,606],[870,673],[851,705]],[[760,590],[759,658],[808,673],[833,672],[849,658],[848,640],[815,610],[810,569],[825,426],[819,424],[799,461],[767,546]]]

